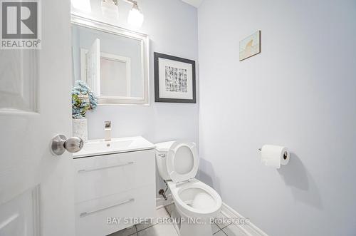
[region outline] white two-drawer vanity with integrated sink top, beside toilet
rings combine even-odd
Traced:
[[[142,137],[90,140],[75,153],[77,236],[109,235],[155,217],[155,145]]]

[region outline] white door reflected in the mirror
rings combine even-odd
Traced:
[[[88,84],[100,96],[100,39],[95,39],[85,57]]]

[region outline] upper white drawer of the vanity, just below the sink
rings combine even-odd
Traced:
[[[75,202],[155,184],[155,150],[77,158]]]

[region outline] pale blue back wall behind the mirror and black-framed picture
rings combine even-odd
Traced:
[[[145,21],[142,28],[133,29],[126,23],[131,4],[119,1],[117,21],[105,19],[101,14],[100,1],[92,0],[91,4],[92,12],[85,16],[150,35],[151,104],[150,106],[98,106],[94,113],[88,113],[89,138],[103,138],[104,121],[111,120],[112,137],[142,135],[152,143],[174,139],[192,140],[198,143],[199,104],[155,103],[153,83],[153,52],[197,61],[197,9],[180,0],[138,1],[145,15]],[[199,90],[197,93],[199,94]],[[157,189],[163,187],[163,182],[157,173]]]

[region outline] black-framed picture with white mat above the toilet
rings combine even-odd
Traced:
[[[155,102],[197,103],[195,61],[155,53]]]

